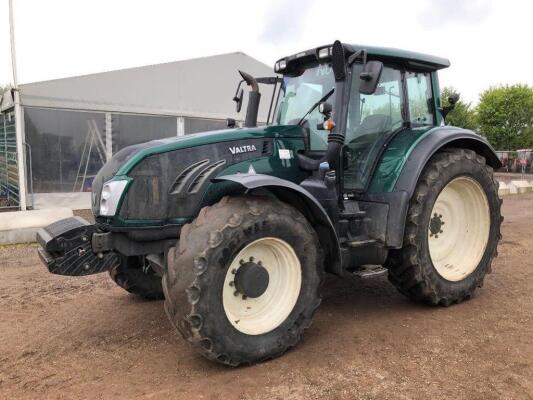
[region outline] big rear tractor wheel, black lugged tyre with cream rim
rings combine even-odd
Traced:
[[[501,203],[485,158],[467,149],[435,154],[411,198],[403,248],[386,262],[389,280],[415,301],[469,299],[498,254]]]

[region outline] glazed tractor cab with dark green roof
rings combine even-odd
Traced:
[[[363,192],[397,133],[441,124],[436,71],[447,66],[438,57],[340,42],[298,53],[275,64],[283,79],[274,123],[304,127],[304,168],[318,169],[309,159],[343,161],[343,191]],[[330,142],[344,145],[342,158],[324,159]]]

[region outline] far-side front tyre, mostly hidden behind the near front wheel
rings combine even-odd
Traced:
[[[121,263],[109,270],[111,279],[122,289],[147,300],[162,300],[161,277],[148,268],[143,270],[139,257],[122,257]]]

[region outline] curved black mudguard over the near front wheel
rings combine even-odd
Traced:
[[[213,182],[234,182],[246,189],[266,190],[280,200],[298,209],[315,228],[325,250],[326,271],[342,274],[341,250],[337,232],[326,210],[307,190],[294,182],[263,174],[235,174],[219,176]]]

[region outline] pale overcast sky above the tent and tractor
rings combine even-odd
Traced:
[[[339,39],[447,57],[441,87],[474,104],[490,86],[533,85],[531,0],[13,3],[19,83],[235,51],[273,65]],[[8,0],[1,0],[0,84],[10,82]]]

